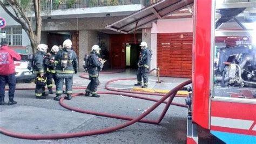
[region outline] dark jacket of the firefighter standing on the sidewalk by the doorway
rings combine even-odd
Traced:
[[[151,61],[151,56],[152,56],[152,51],[147,47],[145,48],[140,56],[139,56],[139,62],[138,66],[139,67],[145,67],[148,68],[150,67],[150,61]]]

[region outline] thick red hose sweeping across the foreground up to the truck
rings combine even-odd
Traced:
[[[96,130],[92,130],[92,131],[84,131],[84,132],[76,132],[76,133],[65,133],[65,134],[23,134],[23,133],[16,133],[16,132],[12,132],[12,131],[8,131],[7,129],[4,129],[2,127],[0,127],[0,132],[5,134],[5,135],[9,135],[9,136],[13,136],[15,138],[21,138],[21,139],[33,139],[33,140],[38,140],[38,139],[63,139],[63,138],[74,138],[74,137],[78,137],[78,136],[87,136],[87,135],[95,135],[95,134],[103,134],[103,133],[109,133],[112,131],[116,131],[118,129],[130,126],[140,120],[143,120],[144,117],[147,116],[147,114],[149,114],[150,112],[152,112],[154,109],[156,109],[157,106],[159,106],[161,103],[164,102],[165,99],[169,98],[164,111],[161,113],[159,119],[157,120],[158,123],[160,123],[160,121],[163,119],[167,109],[169,108],[170,104],[172,103],[173,98],[175,97],[177,91],[183,87],[185,87],[185,85],[190,84],[191,80],[188,80],[184,83],[179,84],[176,88],[172,89],[171,91],[169,91],[165,96],[161,97],[160,100],[158,100],[153,106],[151,106],[148,110],[146,110],[146,112],[140,114],[139,117],[137,118],[132,118],[130,121],[128,121],[125,124],[121,124],[121,125],[117,125],[114,127],[108,127],[108,128],[104,128],[104,129],[96,129]],[[75,95],[81,95],[83,93],[78,93],[78,94],[74,94]],[[64,98],[60,99],[60,103],[63,101]]]

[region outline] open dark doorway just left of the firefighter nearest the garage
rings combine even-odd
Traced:
[[[125,45],[125,68],[138,68],[140,46],[139,44]]]

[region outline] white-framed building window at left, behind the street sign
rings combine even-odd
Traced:
[[[22,46],[22,27],[5,27],[2,31],[6,31],[6,38],[2,38],[9,42],[11,46]]]

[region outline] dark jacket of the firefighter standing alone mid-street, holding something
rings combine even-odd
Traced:
[[[98,77],[99,71],[103,68],[104,62],[100,60],[97,53],[91,53],[89,55],[88,73],[90,77]]]

